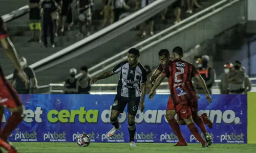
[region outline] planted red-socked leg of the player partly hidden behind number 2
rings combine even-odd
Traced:
[[[167,109],[166,109],[166,114],[165,118],[167,119],[170,127],[172,127],[173,132],[179,139],[179,142],[175,144],[175,146],[187,146],[187,142],[184,139],[181,131],[180,131],[180,126],[175,119],[176,111],[175,111],[175,105],[173,102],[172,97],[169,97],[168,102],[167,102]]]

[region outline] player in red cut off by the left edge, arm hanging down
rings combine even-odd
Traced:
[[[8,37],[5,23],[0,17],[0,44],[3,46],[8,58],[14,64],[14,67],[18,70],[19,77],[22,78],[26,85],[28,85],[28,77],[26,73],[22,70],[16,50]],[[4,129],[0,133],[0,146],[8,150],[8,153],[17,152],[16,149],[11,146],[8,142],[8,137],[11,132],[16,128],[16,126],[23,120],[23,105],[20,101],[16,90],[7,82],[5,75],[0,66],[0,127],[2,123],[2,118],[4,115],[4,107],[7,107],[11,112]],[[0,150],[0,153],[2,151]]]

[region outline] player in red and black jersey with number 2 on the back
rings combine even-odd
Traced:
[[[183,49],[175,47],[173,49],[173,61],[169,61],[165,66],[162,74],[156,80],[149,97],[153,98],[154,91],[160,85],[165,77],[168,78],[170,95],[174,101],[175,109],[179,119],[184,120],[188,125],[191,133],[202,143],[202,147],[208,147],[212,143],[210,135],[206,132],[202,119],[197,115],[197,94],[194,89],[191,79],[196,77],[206,92],[206,98],[211,103],[211,97],[207,90],[204,80],[198,73],[196,67],[186,61],[183,61]],[[195,116],[195,117],[193,117]],[[203,140],[197,127],[194,124],[193,118],[199,117],[201,119],[200,129],[205,134],[207,143]]]

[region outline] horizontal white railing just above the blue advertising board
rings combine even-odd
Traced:
[[[256,78],[250,78],[249,79],[250,81],[256,81]],[[221,80],[215,80],[215,83],[220,83]],[[168,82],[162,82],[160,84],[160,86],[166,86],[168,85]],[[117,84],[94,84],[92,85],[92,87],[116,87]],[[253,86],[253,91],[256,91],[256,84],[252,84]],[[52,92],[52,93],[63,93],[63,90],[54,90],[53,87],[64,87],[64,84],[50,84],[49,85],[49,91]],[[218,86],[214,86],[212,87],[212,89],[219,89]],[[109,93],[109,92],[113,92],[113,91],[92,91],[92,93]],[[115,91],[114,91],[115,92]],[[166,92],[169,92],[168,89],[158,89],[158,92],[157,93],[166,93]],[[115,92],[116,93],[116,92]]]

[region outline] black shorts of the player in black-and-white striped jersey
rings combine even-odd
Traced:
[[[129,99],[126,97],[121,97],[116,95],[114,99],[114,103],[112,105],[112,110],[118,111],[119,113],[123,113],[124,108],[127,105],[127,112],[130,115],[136,116],[138,107],[140,103],[140,97],[135,97],[133,99]]]

